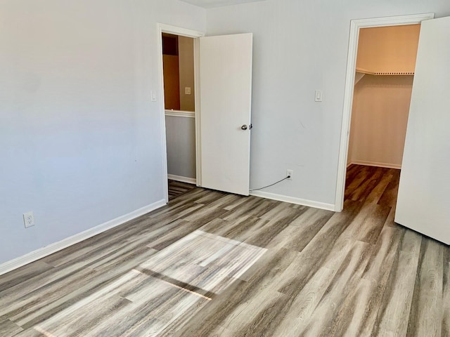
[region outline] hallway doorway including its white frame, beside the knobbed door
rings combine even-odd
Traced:
[[[169,202],[169,189],[170,199],[172,199],[174,190],[178,189],[179,185],[188,189],[192,187],[191,185],[199,184],[198,38],[205,34],[164,24],[158,24],[157,33],[160,55],[158,58],[160,88],[162,88],[159,100],[163,112],[161,119],[162,164],[166,175],[163,180],[163,190],[166,202]],[[191,53],[191,55],[187,55],[187,57],[183,55],[183,60],[180,62],[180,52],[181,54]],[[169,67],[165,69],[165,63],[178,69],[165,74],[165,71],[169,70]],[[183,75],[180,79],[179,68],[180,66],[186,67],[186,63],[190,63],[192,68],[187,70],[188,76],[185,76],[185,69],[182,69]],[[167,84],[165,84],[165,79],[169,79]],[[165,95],[166,85],[170,86],[167,88],[167,92],[171,93],[169,95]],[[182,107],[185,109],[181,109]],[[169,167],[172,173],[169,171]]]

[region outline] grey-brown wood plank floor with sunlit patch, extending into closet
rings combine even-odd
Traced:
[[[450,249],[396,225],[399,171],[341,213],[193,188],[0,276],[0,336],[450,336]]]

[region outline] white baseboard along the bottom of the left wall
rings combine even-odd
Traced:
[[[40,249],[37,249],[36,251],[32,251],[18,258],[14,258],[13,260],[6,261],[5,263],[2,263],[0,265],[0,275],[5,274],[6,272],[11,272],[11,270],[15,270],[18,267],[27,265],[28,263],[32,263],[35,260],[39,260],[40,258],[49,256],[50,254],[56,253],[57,251],[65,249],[68,246],[72,246],[73,244],[77,244],[78,242],[82,242],[83,240],[89,239],[90,237],[94,237],[94,235],[105,232],[106,230],[110,230],[113,227],[122,225],[129,220],[133,220],[134,218],[143,216],[148,212],[165,206],[165,204],[165,200],[156,201],[153,204],[144,206],[141,209],[136,209],[136,211],[132,211],[131,213],[125,214],[124,216],[120,216],[106,223],[102,223],[101,225],[98,225],[96,227],[92,227],[89,230],[85,230],[84,232],[75,234],[72,237],[68,237],[67,239],[49,244],[49,246],[42,247]]]

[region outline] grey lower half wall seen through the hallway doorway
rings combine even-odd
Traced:
[[[167,173],[195,178],[195,119],[166,116]]]

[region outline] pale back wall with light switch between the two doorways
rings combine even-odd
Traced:
[[[350,20],[435,12],[448,0],[266,0],[207,10],[207,34],[253,32],[250,186],[334,204]],[[323,90],[323,103],[314,90]]]

